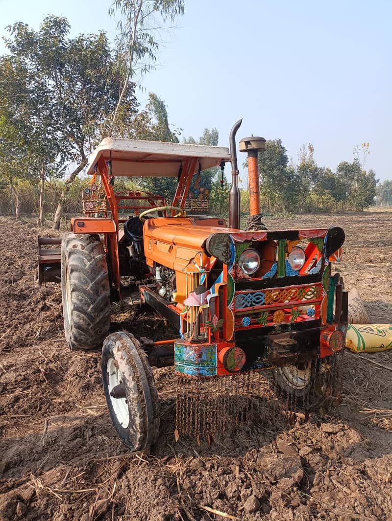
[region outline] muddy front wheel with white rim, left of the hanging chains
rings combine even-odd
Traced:
[[[132,451],[142,451],[159,434],[159,403],[145,352],[132,334],[110,334],[102,348],[102,380],[117,435]]]

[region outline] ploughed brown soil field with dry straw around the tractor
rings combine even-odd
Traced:
[[[337,408],[289,425],[267,402],[257,425],[211,446],[175,442],[174,377],[156,370],[161,436],[149,454],[130,454],[106,410],[100,353],[70,352],[60,287],[34,288],[35,221],[0,222],[0,521],[392,519],[392,352],[345,353]],[[371,321],[392,322],[391,213],[265,222],[344,228],[346,288],[358,288]],[[113,305],[121,329],[167,334],[152,312]]]

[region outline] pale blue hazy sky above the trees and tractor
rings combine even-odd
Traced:
[[[54,14],[72,36],[105,30],[114,39],[110,4],[0,0],[0,30],[15,21],[38,29]],[[238,139],[281,138],[294,163],[312,143],[317,164],[335,169],[366,142],[365,168],[392,179],[391,22],[392,0],[185,0],[137,96],[142,105],[149,91],[164,100],[182,137],[216,127],[223,146],[243,118]]]

